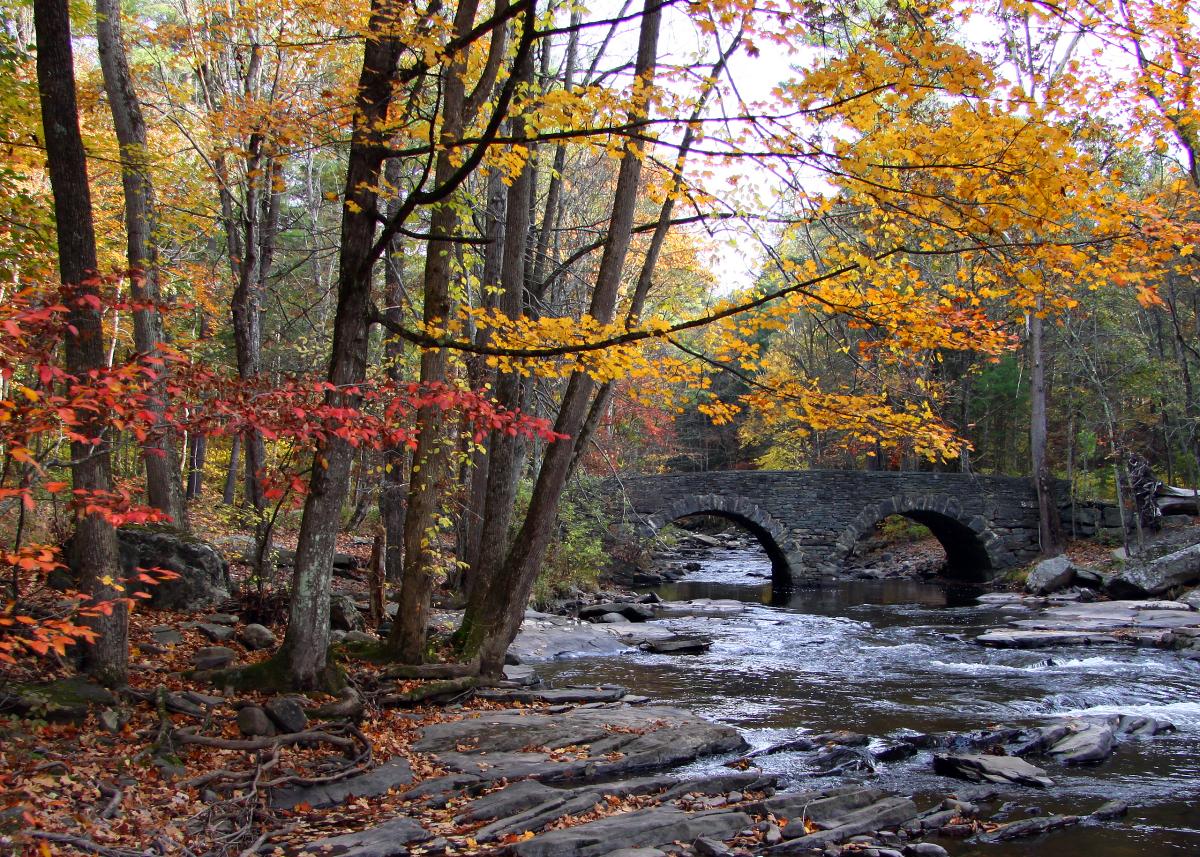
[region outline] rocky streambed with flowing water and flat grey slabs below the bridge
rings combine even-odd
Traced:
[[[686,562],[580,617],[530,611],[508,687],[480,694],[498,708],[413,744],[440,775],[412,786],[392,760],[280,796],[401,792],[403,815],[304,851],[449,853],[440,813],[521,857],[1200,852],[1187,599],[1104,600],[1070,575],[781,594],[756,551]]]

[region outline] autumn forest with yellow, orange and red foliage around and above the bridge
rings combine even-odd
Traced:
[[[1198,22],[0,0],[4,683],[138,685],[137,533],[239,545],[227,687],[344,694],[353,544],[358,654],[463,689],[623,477],[1022,477],[1045,556],[1056,480],[1200,485]]]

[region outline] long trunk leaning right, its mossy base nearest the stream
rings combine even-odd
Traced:
[[[646,0],[634,70],[647,90],[654,78],[661,8],[658,1]],[[632,119],[644,120],[647,109],[647,104],[641,104]],[[617,172],[612,218],[589,307],[592,317],[601,324],[612,320],[617,307],[617,295],[637,205],[641,149],[641,143],[629,140]],[[468,609],[463,617],[463,647],[468,654],[479,652],[480,671],[484,675],[493,676],[500,672],[504,666],[504,653],[521,625],[529,592],[550,543],[558,503],[570,475],[576,438],[587,419],[589,400],[595,388],[595,380],[582,372],[574,373],[568,380],[554,431],[569,436],[569,439],[552,443],[547,448],[534,485],[529,510],[504,564],[492,580],[490,594],[479,599],[480,606],[475,610]]]

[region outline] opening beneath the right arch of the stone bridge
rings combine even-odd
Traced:
[[[853,564],[858,567],[870,567],[872,561],[890,565],[878,569],[889,576],[942,576],[977,583],[990,580],[995,571],[980,535],[936,511],[912,510],[881,519],[856,541],[851,556],[857,557]]]

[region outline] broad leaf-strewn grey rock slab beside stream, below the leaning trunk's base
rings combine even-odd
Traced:
[[[563,753],[564,748],[570,748]],[[745,741],[731,726],[678,708],[617,706],[560,714],[485,712],[426,726],[414,744],[450,771],[484,780],[601,779],[665,771],[701,756],[737,753]]]

